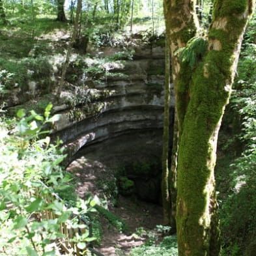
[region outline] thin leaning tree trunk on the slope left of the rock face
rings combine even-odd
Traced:
[[[76,19],[75,19],[75,23],[74,23],[72,38],[71,38],[70,44],[68,45],[68,50],[66,51],[66,59],[63,64],[61,80],[59,81],[59,87],[58,87],[58,91],[57,91],[57,96],[59,99],[61,96],[61,91],[63,89],[64,79],[66,77],[66,69],[68,68],[68,63],[69,63],[70,55],[72,52],[72,46],[73,46],[74,42],[76,42],[76,38],[78,35],[79,16],[81,14],[81,8],[82,8],[82,0],[78,0],[78,5],[76,7]]]

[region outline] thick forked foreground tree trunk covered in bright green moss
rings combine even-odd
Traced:
[[[179,256],[218,256],[214,181],[221,118],[254,0],[215,0],[208,48],[184,69],[175,53],[197,27],[194,1],[165,0],[178,114],[177,235]],[[183,42],[182,42],[183,41]]]

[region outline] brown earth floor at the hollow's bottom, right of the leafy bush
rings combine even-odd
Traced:
[[[126,197],[119,197],[118,207],[109,210],[126,221],[129,231],[120,233],[110,226],[106,219],[102,219],[103,239],[98,250],[105,256],[128,255],[130,250],[141,246],[149,238],[148,233],[155,233],[156,225],[162,223],[162,207],[144,201],[134,201]],[[139,229],[147,231],[137,235]]]

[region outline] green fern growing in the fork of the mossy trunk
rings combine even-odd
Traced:
[[[207,41],[202,37],[195,36],[188,41],[186,47],[178,49],[175,55],[180,53],[179,61],[186,62],[193,68],[196,60],[204,55],[206,47]]]

